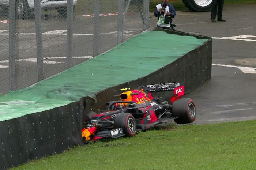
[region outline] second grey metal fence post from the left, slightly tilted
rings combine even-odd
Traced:
[[[38,81],[41,81],[44,79],[44,58],[43,58],[40,0],[34,0],[34,4],[35,4],[35,38],[37,41]]]

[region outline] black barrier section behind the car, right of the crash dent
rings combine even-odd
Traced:
[[[156,31],[165,31],[170,34],[190,35],[198,39],[208,39],[204,44],[196,49],[188,52],[176,61],[166,65],[165,67],[147,75],[146,77],[133,80],[115,87],[108,88],[95,95],[95,100],[92,98],[83,99],[86,102],[86,110],[84,117],[92,116],[90,111],[98,113],[98,109],[105,110],[105,103],[113,100],[115,94],[120,94],[120,88],[137,88],[141,85],[174,83],[180,82],[185,85],[185,94],[202,86],[202,84],[211,78],[212,64],[212,38],[202,35],[192,35],[180,31],[165,30],[156,28]],[[154,94],[153,94],[154,95]],[[162,101],[169,101],[173,95],[170,92],[158,92],[157,97],[162,97]]]

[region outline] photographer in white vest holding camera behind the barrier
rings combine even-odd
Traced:
[[[172,24],[172,18],[175,17],[176,11],[169,0],[163,0],[155,8],[154,15],[157,17],[157,27],[174,30],[175,24]]]

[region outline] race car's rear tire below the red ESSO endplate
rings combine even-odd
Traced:
[[[177,124],[192,123],[196,119],[196,106],[192,99],[183,98],[173,102],[172,113]]]

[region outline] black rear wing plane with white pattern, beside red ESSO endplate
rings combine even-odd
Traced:
[[[165,83],[165,84],[153,84],[139,86],[139,89],[143,89],[145,92],[159,92],[159,91],[172,91],[175,88],[181,86],[181,83]]]

